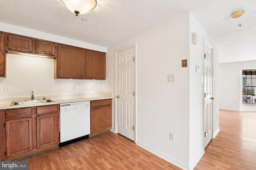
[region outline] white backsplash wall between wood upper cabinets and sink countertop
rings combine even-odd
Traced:
[[[2,92],[10,86],[10,92]],[[0,101],[15,96],[34,98],[47,95],[94,94],[100,92],[100,80],[54,79],[54,60],[7,55],[7,78],[0,77]]]

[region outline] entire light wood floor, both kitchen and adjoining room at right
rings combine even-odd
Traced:
[[[220,110],[220,132],[194,170],[256,170],[256,112]],[[28,170],[180,170],[112,132],[25,158]]]

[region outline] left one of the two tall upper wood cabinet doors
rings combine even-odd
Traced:
[[[85,78],[84,49],[58,45],[58,78]]]

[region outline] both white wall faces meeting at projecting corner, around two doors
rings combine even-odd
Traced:
[[[198,33],[196,46],[190,43],[192,32]],[[115,92],[114,82],[109,81],[115,75],[114,51],[136,43],[136,144],[183,169],[194,168],[204,153],[203,69],[195,72],[195,64],[203,67],[204,37],[214,45],[218,98],[218,47],[189,13],[108,47],[107,75],[101,84],[103,91]],[[183,59],[188,59],[186,68],[181,67]],[[172,73],[176,81],[167,82],[167,74]],[[217,117],[218,100],[213,114]],[[218,119],[213,126],[217,131]],[[175,142],[170,141],[170,132],[176,134]]]

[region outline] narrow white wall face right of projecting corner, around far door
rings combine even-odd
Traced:
[[[192,33],[198,35],[197,45],[193,45]],[[204,40],[207,40],[213,46],[213,133],[218,132],[218,46],[212,38],[206,33],[204,28],[190,14],[190,134],[189,134],[189,165],[194,168],[204,153]],[[200,71],[196,72],[196,64],[200,66]]]

